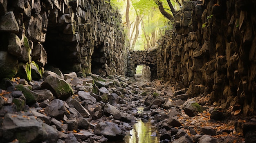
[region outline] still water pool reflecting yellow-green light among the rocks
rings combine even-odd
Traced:
[[[124,141],[111,143],[159,143],[159,137],[151,136],[155,131],[155,127],[150,123],[150,120],[146,122],[139,120],[133,125],[133,129],[127,132]]]

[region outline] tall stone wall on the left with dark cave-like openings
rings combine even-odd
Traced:
[[[26,73],[21,78],[30,80],[33,65],[125,75],[127,54],[109,0],[0,1],[0,78]]]

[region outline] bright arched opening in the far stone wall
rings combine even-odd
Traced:
[[[150,66],[137,65],[135,69],[136,69],[136,74],[135,74],[136,80],[150,81],[150,78],[151,78]]]

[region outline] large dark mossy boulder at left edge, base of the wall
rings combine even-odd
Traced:
[[[0,79],[5,77],[12,79],[18,72],[18,67],[19,64],[16,57],[0,51]]]

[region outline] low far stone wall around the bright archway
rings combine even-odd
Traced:
[[[130,51],[126,76],[134,77],[137,65],[150,67],[150,80],[157,79],[157,50]]]

